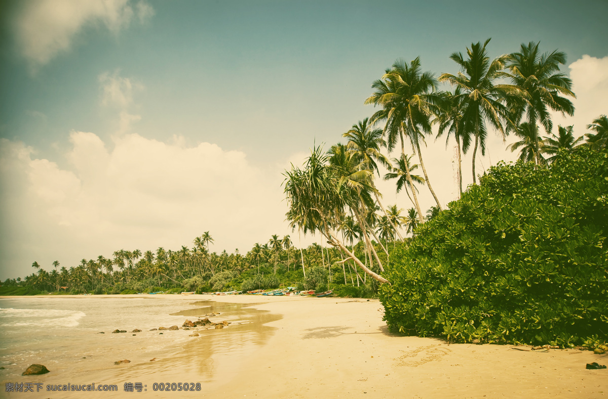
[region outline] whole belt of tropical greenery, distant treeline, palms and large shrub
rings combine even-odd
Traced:
[[[55,261],[50,272],[33,260],[32,274],[2,282],[0,295],[296,287],[379,298],[395,334],[605,343],[608,117],[586,130],[554,126],[552,115],[575,113],[565,53],[530,42],[490,58],[489,45],[452,53],[453,73],[397,59],[373,81],[361,99],[370,116],[283,173],[291,236],[216,253],[204,232],[179,249],[120,249],[80,264]],[[518,161],[480,173],[476,157],[496,134]],[[429,139],[456,149],[458,199],[446,207],[425,167]],[[468,187],[463,173],[471,173]],[[383,203],[379,179],[394,184],[401,205]],[[421,203],[421,190],[432,203]],[[320,242],[295,247],[292,236],[307,234]]]

